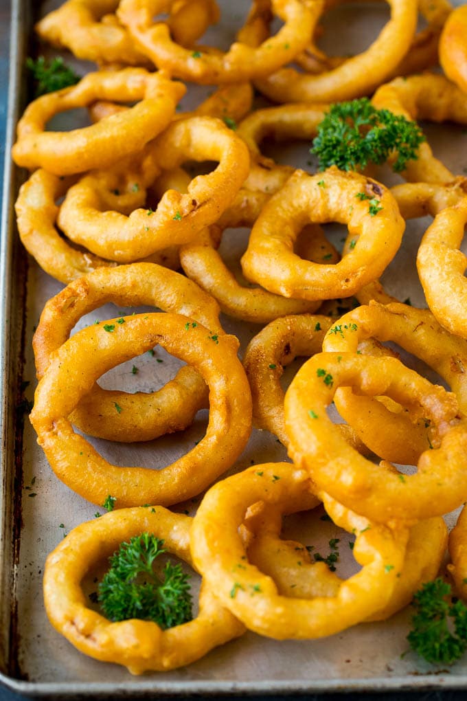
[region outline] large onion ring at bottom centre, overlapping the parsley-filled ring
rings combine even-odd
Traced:
[[[324,637],[368,618],[389,601],[403,565],[407,529],[370,524],[324,495],[334,522],[356,529],[353,552],[362,569],[335,596],[279,594],[274,580],[246,559],[238,529],[250,505],[264,501],[294,512],[302,492],[311,489],[307,473],[290,463],[256,465],[211,487],[193,519],[190,547],[197,569],[247,628],[277,640]]]

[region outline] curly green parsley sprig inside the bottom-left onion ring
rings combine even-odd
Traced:
[[[166,562],[161,575],[154,570],[155,560],[165,552],[163,545],[163,540],[141,533],[109,558],[111,567],[98,587],[106,618],[152,620],[162,629],[193,618],[188,575],[181,565]]]

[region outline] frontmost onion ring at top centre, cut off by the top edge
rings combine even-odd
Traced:
[[[242,38],[227,53],[209,47],[184,48],[174,41],[167,25],[153,23],[154,15],[169,5],[167,0],[121,0],[117,15],[133,37],[139,50],[172,76],[186,81],[215,85],[238,83],[266,76],[283,66],[307,45],[319,16],[319,4],[309,0],[271,0],[272,12],[284,22],[275,36],[259,46],[250,46]],[[269,11],[269,7],[268,7]],[[246,20],[255,21],[256,3]],[[246,34],[244,34],[246,36]],[[256,32],[249,39],[257,38]]]

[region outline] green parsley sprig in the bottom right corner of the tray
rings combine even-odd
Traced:
[[[452,665],[467,647],[467,606],[447,601],[451,587],[441,578],[426,582],[412,601],[414,615],[407,640],[412,650],[433,665]],[[454,633],[449,631],[452,618]]]

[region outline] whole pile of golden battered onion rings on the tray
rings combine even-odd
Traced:
[[[188,665],[245,628],[274,639],[325,637],[393,615],[442,566],[442,515],[467,501],[459,250],[467,180],[427,142],[405,165],[407,182],[393,187],[372,165],[312,173],[276,163],[262,145],[310,142],[333,103],[361,95],[409,122],[467,124],[466,7],[388,1],[391,18],[376,41],[349,58],[316,46],[322,13],[345,0],[252,0],[226,51],[200,43],[223,20],[214,0],[67,0],[36,27],[98,68],[29,104],[12,154],[31,171],[15,205],[22,243],[67,285],[34,334],[31,421],[55,475],[90,503],[111,496],[117,509],[71,531],[44,579],[50,621],[98,660],[141,674]],[[417,34],[418,13],[428,27]],[[274,17],[283,22],[276,34]],[[435,64],[438,41],[447,77],[411,75]],[[182,80],[217,87],[187,111]],[[253,110],[252,82],[285,104]],[[46,130],[76,107],[88,107],[90,126]],[[389,161],[397,156],[393,149]],[[412,308],[379,276],[405,219],[427,214],[434,220],[417,268],[429,309]],[[325,236],[329,222],[347,227],[340,247]],[[246,227],[241,266],[230,269],[228,230]],[[83,315],[109,302],[164,313],[88,318],[73,334]],[[233,318],[228,326],[221,311]],[[389,341],[452,391],[403,365]],[[155,346],[187,363],[160,390],[97,384]],[[292,375],[296,356],[311,357],[285,391],[280,378],[284,369]],[[330,420],[333,402],[347,423]],[[73,428],[146,442],[190,427],[208,408],[206,435],[160,470],[113,464]],[[244,470],[252,425],[273,437]],[[163,461],[158,444],[151,455]],[[193,521],[165,508],[206,490]],[[336,529],[356,536],[358,573],[337,575],[302,543],[281,539],[284,516],[320,503]],[[202,574],[193,622],[162,632],[146,620],[110,622],[83,604],[83,573],[143,531]],[[449,549],[449,571],[467,598],[465,515]]]

